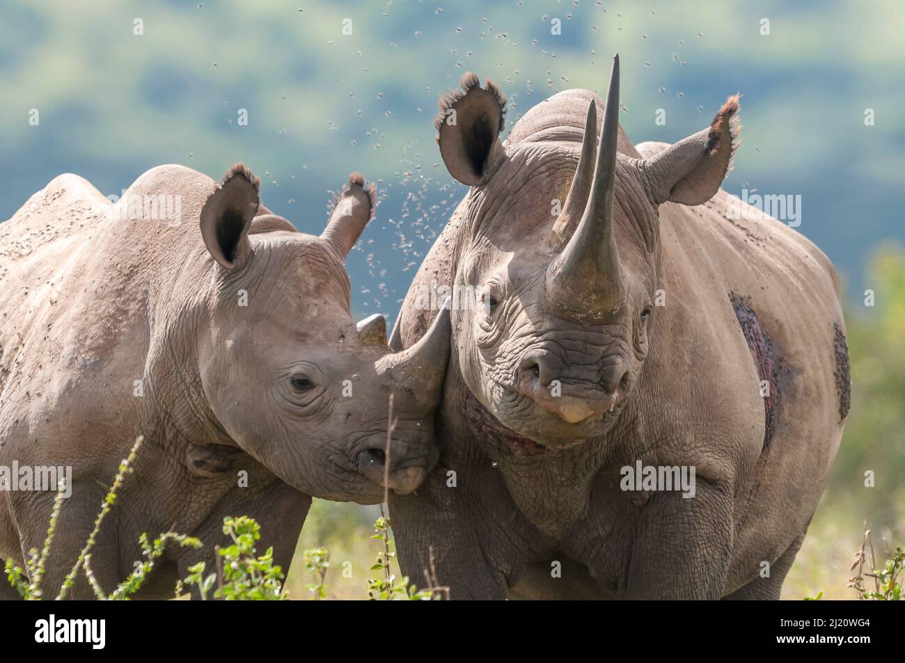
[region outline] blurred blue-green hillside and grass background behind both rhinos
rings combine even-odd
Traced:
[[[724,187],[802,196],[796,230],[843,277],[852,355],[852,413],[785,595],[852,598],[845,583],[864,521],[878,556],[883,537],[905,539],[903,22],[905,5],[892,1],[0,0],[0,219],[63,172],[120,194],[159,164],[216,178],[241,160],[274,212],[319,233],[330,192],[360,170],[380,205],[348,259],[353,308],[392,322],[465,192],[433,141],[438,95],[464,71],[509,96],[508,130],[557,90],[604,91],[618,51],[621,118],[636,143],[688,136],[741,92],[742,146]],[[374,515],[312,510],[300,549],[330,547],[331,596],[364,596]],[[293,566],[290,588],[303,597]]]

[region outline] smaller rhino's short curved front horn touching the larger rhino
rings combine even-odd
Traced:
[[[425,408],[440,402],[440,390],[450,355],[450,298],[446,298],[433,324],[414,346],[380,360],[381,368],[393,383],[409,393]]]

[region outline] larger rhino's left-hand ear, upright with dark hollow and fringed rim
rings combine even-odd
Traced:
[[[463,185],[483,185],[502,162],[500,131],[506,115],[506,95],[493,81],[485,88],[471,71],[462,76],[462,91],[440,100],[433,120],[440,156],[450,175]]]

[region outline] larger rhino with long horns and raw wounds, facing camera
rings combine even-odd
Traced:
[[[501,143],[505,103],[469,73],[436,121],[472,188],[390,344],[453,287],[441,460],[391,500],[403,571],[433,547],[452,598],[778,597],[848,411],[833,266],[754,208],[727,214],[737,98],[637,148],[618,57],[605,105],[560,92]],[[456,307],[470,287],[478,306]]]

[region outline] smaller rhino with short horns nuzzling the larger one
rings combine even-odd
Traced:
[[[142,532],[205,544],[158,565],[147,594],[166,596],[176,573],[213,561],[224,516],[255,517],[261,550],[288,569],[310,496],[376,503],[385,460],[388,488],[420,483],[437,455],[448,316],[397,354],[382,317],[356,325],[343,262],[373,205],[353,174],[314,237],[263,207],[241,165],[221,185],[160,166],[117,204],[61,175],[0,224],[0,465],[72,468],[45,595],[138,435],[93,550],[108,592],[141,558]],[[40,549],[53,498],[0,491],[0,557],[21,566]],[[70,595],[92,594],[81,580]]]

